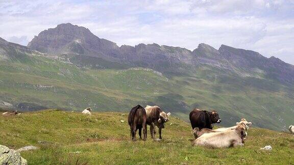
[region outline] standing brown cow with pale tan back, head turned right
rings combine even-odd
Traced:
[[[155,138],[156,128],[158,127],[159,132],[159,139],[162,139],[161,136],[161,129],[164,128],[164,123],[168,122],[168,116],[170,116],[170,113],[165,113],[161,110],[159,106],[150,106],[147,105],[145,107],[146,115],[147,115],[147,124],[150,125],[150,133],[152,139]]]

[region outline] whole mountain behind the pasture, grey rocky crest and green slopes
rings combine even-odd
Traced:
[[[21,46],[0,38],[0,108],[129,111],[157,104],[187,120],[215,109],[231,125],[286,129],[294,115],[294,66],[258,52],[199,44],[117,46],[64,23]]]

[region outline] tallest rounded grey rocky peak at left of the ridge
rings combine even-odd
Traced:
[[[111,56],[116,56],[117,52],[112,50],[119,48],[115,43],[95,36],[89,29],[71,23],[62,23],[56,28],[42,31],[28,47],[44,53],[76,53],[96,57],[102,57],[101,52],[110,52]]]

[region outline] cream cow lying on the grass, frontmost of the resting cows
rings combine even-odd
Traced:
[[[245,128],[238,125],[236,129],[225,132],[205,133],[193,141],[195,146],[208,148],[228,148],[243,146],[243,138],[247,135]]]

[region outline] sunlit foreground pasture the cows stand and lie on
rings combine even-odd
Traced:
[[[13,149],[28,145],[40,147],[21,153],[30,164],[74,164],[78,159],[89,164],[294,162],[294,136],[289,133],[252,128],[243,148],[213,150],[192,147],[190,125],[172,117],[163,129],[163,141],[152,141],[148,133],[146,142],[131,142],[127,116],[117,112],[86,116],[55,110],[0,116],[0,144]],[[260,151],[265,145],[271,145],[273,150]],[[76,151],[80,153],[74,153]]]

